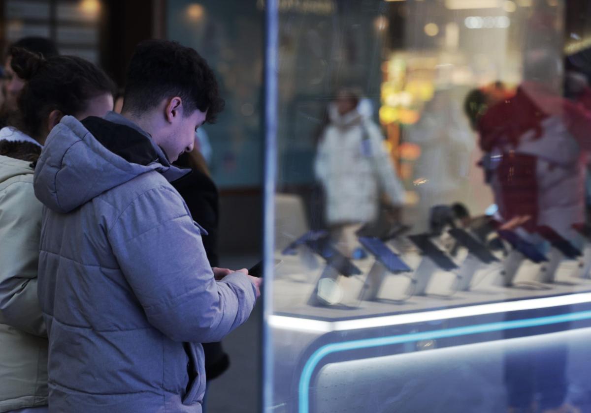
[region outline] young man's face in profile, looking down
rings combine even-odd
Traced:
[[[159,145],[168,156],[170,162],[174,162],[184,152],[191,152],[195,144],[195,132],[205,122],[207,111],[194,110],[189,116],[179,116],[175,119],[171,133],[163,139]]]

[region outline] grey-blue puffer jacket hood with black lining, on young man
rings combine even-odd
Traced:
[[[187,171],[132,127],[99,117],[80,122],[64,116],[51,130],[35,167],[35,196],[56,212],[70,212],[142,173],[160,172],[169,182]]]

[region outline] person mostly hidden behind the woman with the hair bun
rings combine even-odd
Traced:
[[[21,40],[15,41],[12,44],[12,47],[28,50],[31,53],[39,54],[44,58],[59,55],[54,42],[44,37],[24,37]],[[4,76],[2,77],[2,94],[4,95],[4,101],[0,108],[0,126],[5,126],[11,113],[18,110],[18,95],[21,93],[25,84],[25,80],[12,70],[11,59],[11,54],[7,54],[6,60],[4,61]]]

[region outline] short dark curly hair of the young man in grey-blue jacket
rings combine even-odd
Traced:
[[[208,123],[224,107],[213,71],[199,53],[174,41],[139,43],[127,70],[124,112],[141,116],[174,96],[183,100],[185,116],[207,110]]]

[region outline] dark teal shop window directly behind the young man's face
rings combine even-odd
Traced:
[[[262,179],[262,12],[254,1],[174,0],[167,7],[168,38],[207,58],[226,107],[209,137],[209,167],[219,188],[252,188]]]

